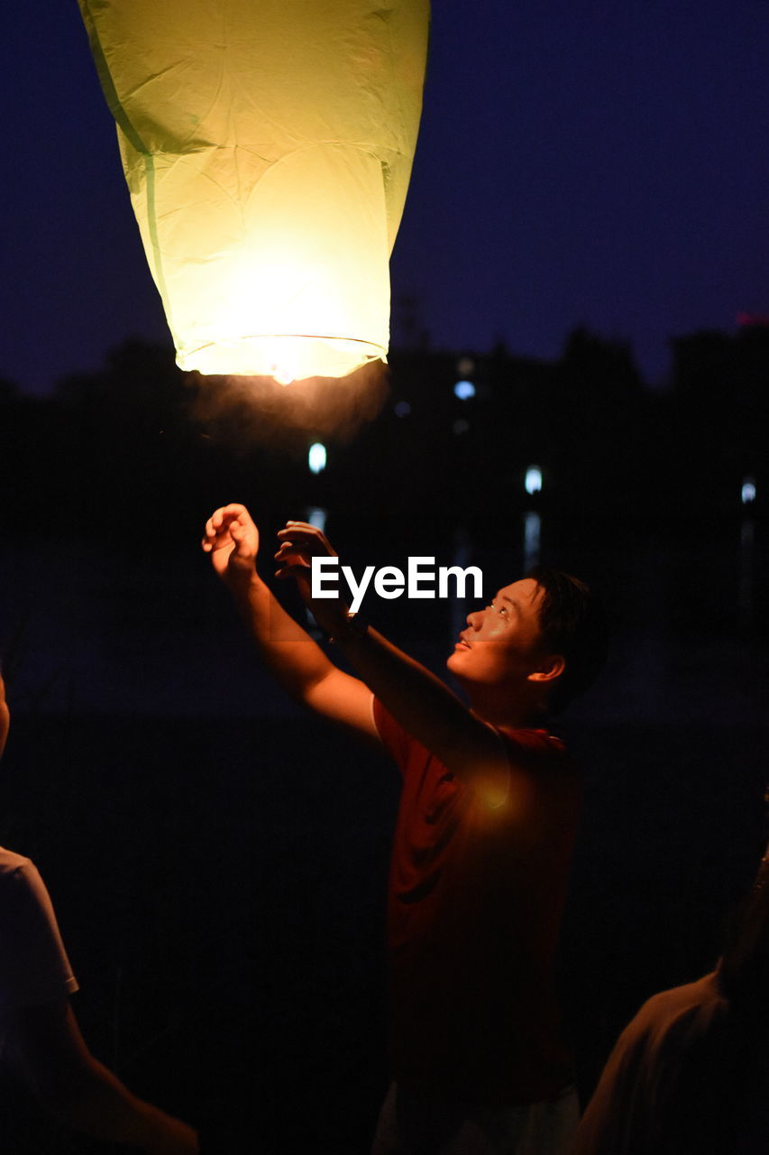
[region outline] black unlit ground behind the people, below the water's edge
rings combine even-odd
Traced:
[[[587,1089],[647,994],[711,966],[760,857],[766,732],[574,744],[591,767],[562,963]],[[386,763],[311,723],[24,717],[2,841],[48,880],[84,1034],[132,1088],[209,1152],[353,1155],[386,1086],[395,804]],[[8,1155],[102,1149],[3,1091]]]

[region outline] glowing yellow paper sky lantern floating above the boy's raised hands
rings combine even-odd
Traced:
[[[80,0],[177,363],[384,357],[428,0]]]

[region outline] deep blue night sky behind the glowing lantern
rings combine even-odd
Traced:
[[[75,0],[0,24],[0,375],[45,392],[170,338]],[[671,334],[769,312],[768,47],[766,0],[436,2],[395,296],[436,346],[585,323],[652,380]]]

